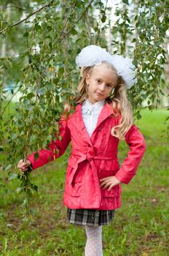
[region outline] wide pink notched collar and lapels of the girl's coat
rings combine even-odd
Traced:
[[[108,104],[107,102],[105,103],[105,105],[103,106],[100,115],[98,116],[98,122],[96,124],[95,129],[109,116],[111,116],[111,114],[113,113],[111,104]],[[77,129],[79,129],[79,132],[84,136],[84,138],[86,138],[87,142],[90,143],[90,146],[93,146],[92,143],[92,137],[90,138],[90,136],[88,135],[87,129],[84,125],[84,121],[82,118],[82,103],[80,103],[79,105],[76,106],[76,110],[74,112],[74,115],[72,116],[71,119],[74,123],[74,125],[76,126]],[[78,125],[77,125],[78,124]],[[95,130],[93,131],[93,133],[95,132]]]

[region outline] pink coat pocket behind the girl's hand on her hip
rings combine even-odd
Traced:
[[[114,176],[117,173],[117,170],[100,170],[99,179],[106,178],[109,176]],[[116,185],[112,187],[110,191],[108,189],[103,189],[101,187],[101,195],[102,197],[119,197],[121,194],[121,185]]]

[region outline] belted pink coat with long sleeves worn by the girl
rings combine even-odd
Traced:
[[[68,159],[63,203],[68,208],[95,208],[109,210],[121,206],[121,185],[108,191],[100,187],[99,180],[116,176],[128,184],[133,178],[146,151],[146,142],[139,129],[132,125],[125,135],[130,151],[119,165],[117,148],[119,140],[111,135],[111,127],[119,124],[121,115],[115,117],[111,104],[106,103],[98,117],[97,126],[90,138],[82,120],[82,104],[76,106],[67,120],[60,119],[60,136],[50,143],[50,149],[42,149],[39,158],[31,154],[33,169],[60,157],[71,141],[71,156]]]

